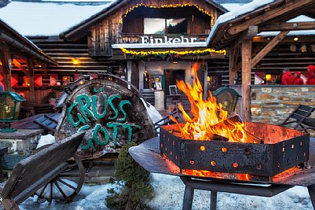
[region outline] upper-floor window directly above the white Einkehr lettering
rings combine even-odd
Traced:
[[[187,19],[145,18],[144,34],[184,34],[187,33]]]

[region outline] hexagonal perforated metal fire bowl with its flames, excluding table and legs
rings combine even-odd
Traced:
[[[193,85],[177,81],[191,105],[186,112],[179,104],[185,122],[171,117],[176,125],[161,127],[160,134],[161,154],[181,173],[272,180],[308,160],[309,134],[265,123],[243,123],[236,114],[227,116],[211,92],[207,100],[203,99],[196,71],[192,73]]]

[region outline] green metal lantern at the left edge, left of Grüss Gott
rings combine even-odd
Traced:
[[[0,92],[0,122],[4,122],[7,128],[0,129],[0,132],[14,132],[16,129],[11,129],[10,123],[17,121],[22,102],[25,98],[16,92]]]

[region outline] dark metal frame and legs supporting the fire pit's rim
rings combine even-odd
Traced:
[[[189,177],[181,177],[185,184],[185,194],[183,200],[183,210],[192,209],[192,200],[194,199],[194,189],[202,189],[211,191],[210,210],[216,210],[216,198],[218,192],[236,193],[247,196],[262,196],[271,198],[278,193],[282,193],[290,189],[290,185],[270,185],[263,187],[261,185],[243,185],[232,182],[215,182],[210,180],[192,179]],[[311,197],[313,207],[315,209],[315,185],[307,187],[309,196]]]

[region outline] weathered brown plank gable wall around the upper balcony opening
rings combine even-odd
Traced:
[[[89,37],[89,54],[90,56],[112,56],[112,48],[111,45],[113,43],[122,43],[121,32],[123,29],[123,25],[119,23],[125,11],[132,6],[144,3],[145,5],[150,6],[161,6],[165,4],[184,4],[184,3],[192,3],[198,4],[200,8],[204,8],[208,12],[214,14],[214,21],[217,19],[219,12],[213,7],[210,6],[203,0],[132,0],[126,3],[124,6],[119,8],[116,12],[113,12],[108,17],[105,17],[103,21],[92,25],[90,28]]]

